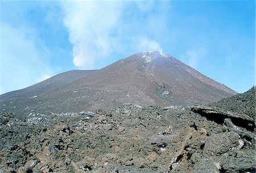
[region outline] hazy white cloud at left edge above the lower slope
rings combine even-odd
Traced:
[[[1,25],[1,91],[18,90],[38,82],[42,73],[51,74],[43,64],[44,53],[27,28]]]

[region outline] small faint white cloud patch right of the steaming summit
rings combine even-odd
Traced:
[[[185,64],[198,69],[200,65],[200,61],[204,59],[207,54],[207,49],[199,48],[199,49],[191,49],[187,50],[187,52],[180,56],[181,61],[185,62]]]

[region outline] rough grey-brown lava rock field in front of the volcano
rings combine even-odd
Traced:
[[[255,87],[208,106],[6,110],[0,138],[0,172],[255,172]]]

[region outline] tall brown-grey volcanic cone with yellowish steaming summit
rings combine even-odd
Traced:
[[[36,91],[41,90],[39,85]],[[19,95],[16,92],[9,97],[0,96],[1,106],[15,107],[14,113],[80,112],[117,104],[211,103],[237,94],[176,58],[155,50],[134,54],[53,90],[36,93],[25,89],[22,92],[26,94],[20,97],[14,96]]]

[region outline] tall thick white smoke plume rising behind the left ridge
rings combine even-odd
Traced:
[[[117,2],[64,2],[64,24],[73,44],[73,63],[93,69],[100,57],[112,53],[112,31],[121,17],[122,4]]]

